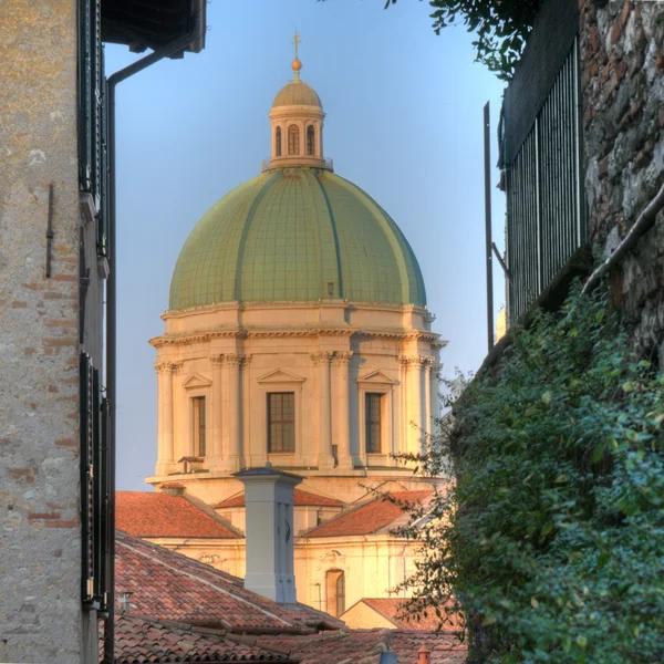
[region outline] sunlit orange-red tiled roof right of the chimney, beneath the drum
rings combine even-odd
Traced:
[[[419,491],[398,491],[390,496],[400,502],[425,501],[433,495],[432,489]],[[340,537],[350,535],[372,535],[393,528],[398,519],[405,517],[401,505],[386,497],[378,497],[360,505],[355,509],[342,512],[321,526],[317,526],[304,537]]]

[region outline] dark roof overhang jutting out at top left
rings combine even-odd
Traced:
[[[205,48],[206,0],[104,0],[102,41],[125,44],[136,53],[155,50],[191,31],[196,17],[200,30],[184,49],[191,53]]]

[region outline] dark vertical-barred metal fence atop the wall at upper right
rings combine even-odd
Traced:
[[[585,242],[579,104],[574,40],[528,136],[506,165],[510,323]]]

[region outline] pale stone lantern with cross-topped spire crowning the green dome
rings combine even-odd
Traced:
[[[270,168],[314,166],[332,169],[323,156],[323,120],[325,114],[319,95],[300,79],[302,62],[298,56],[300,35],[295,31],[292,61],[293,80],[274,97],[270,117],[272,154]]]

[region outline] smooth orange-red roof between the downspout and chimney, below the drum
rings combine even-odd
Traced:
[[[115,523],[120,530],[136,537],[239,537],[217,519],[181,496],[147,491],[115,494]]]

